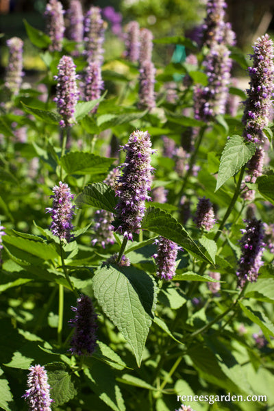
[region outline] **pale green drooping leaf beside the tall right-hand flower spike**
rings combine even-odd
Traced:
[[[251,159],[255,150],[256,146],[251,142],[246,143],[241,136],[229,138],[221,156],[215,192]]]

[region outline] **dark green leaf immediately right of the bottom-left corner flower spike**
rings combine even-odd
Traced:
[[[50,362],[45,369],[51,386],[51,398],[56,406],[73,399],[77,395],[75,384],[72,381],[71,370],[64,362]]]

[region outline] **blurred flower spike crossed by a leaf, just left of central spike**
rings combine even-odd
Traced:
[[[118,175],[119,169],[113,169],[103,182],[114,188]],[[95,212],[95,225],[93,226],[95,234],[92,236],[92,245],[100,244],[101,247],[105,248],[108,244],[114,244],[115,239],[112,233],[114,227],[112,221],[112,212],[105,210],[97,210]]]

